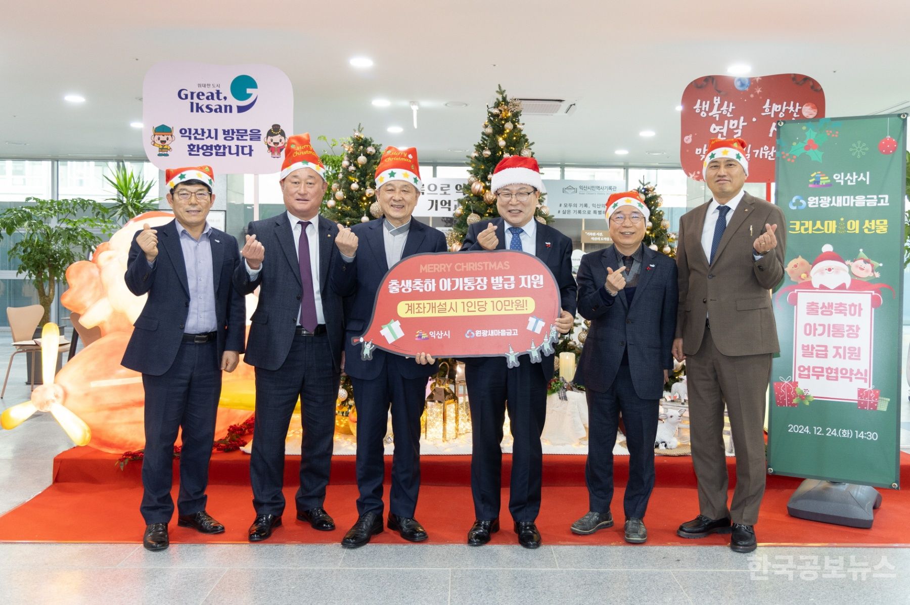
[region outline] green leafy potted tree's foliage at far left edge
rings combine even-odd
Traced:
[[[38,302],[45,308],[42,326],[50,320],[56,280],[65,281],[66,267],[88,257],[113,227],[108,208],[81,197],[27,197],[24,205],[0,213],[0,240],[22,232],[8,254],[19,263],[17,272],[35,284]]]

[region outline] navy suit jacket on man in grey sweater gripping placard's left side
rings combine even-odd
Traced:
[[[349,309],[344,345],[345,372],[354,378],[369,380],[378,378],[383,368],[394,364],[389,370],[394,368],[404,378],[430,377],[437,372],[438,363],[421,366],[413,358],[402,358],[380,348],[373,349],[373,358],[364,361],[360,358],[360,347],[351,344],[351,338],[359,337],[369,326],[376,293],[382,284],[382,278],[389,271],[382,227],[384,220],[377,218],[351,227],[358,238],[357,255],[350,263],[342,259],[332,274],[332,287],[340,296],[347,298]],[[424,252],[445,252],[447,249],[446,237],[439,229],[428,227],[416,218],[410,219],[408,239],[401,251],[401,258]]]

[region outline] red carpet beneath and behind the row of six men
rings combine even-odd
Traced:
[[[272,543],[332,543],[357,519],[354,484],[354,457],[333,460],[332,479],[326,509],[335,518],[336,531],[319,532],[294,519],[294,492],[297,486],[298,457],[288,457],[285,469],[285,498],[288,514],[285,525],[276,530]],[[628,476],[627,458],[616,458],[616,493],[613,512],[617,525],[593,536],[576,536],[569,531],[571,522],[587,510],[584,488],[583,456],[545,456],[544,488],[538,527],[546,544],[626,544],[622,540],[622,487]],[[50,542],[138,542],[143,521],[138,505],[142,496],[141,466],[130,464],[121,471],[116,456],[96,449],[66,451],[54,460],[54,483],[34,499],[0,517],[2,541]],[[233,452],[212,456],[211,485],[208,489],[208,511],[227,526],[227,532],[205,536],[190,529],[177,528],[172,522],[171,540],[180,542],[236,543],[246,542],[246,529],[253,519],[252,495],[248,484],[249,457]],[[390,458],[386,460],[387,477]],[[503,457],[504,476],[511,457]],[[661,457],[656,459],[657,487],[652,494],[648,514],[651,545],[722,545],[725,536],[688,540],[676,536],[683,520],[698,512],[698,497],[692,459]],[[176,467],[175,467],[176,469]],[[733,459],[728,459],[731,487],[734,485]],[[462,544],[474,519],[470,499],[470,457],[428,456],[421,460],[422,486],[417,518],[430,533],[430,544]],[[883,496],[881,509],[875,511],[872,529],[845,528],[826,523],[794,519],[787,515],[786,502],[802,479],[769,477],[756,533],[762,544],[832,545],[832,546],[910,546],[910,493],[879,489]],[[910,485],[910,455],[901,455],[901,481]],[[507,484],[504,481],[504,485]],[[386,487],[388,492],[388,485]],[[177,497],[175,480],[174,496]],[[492,539],[493,544],[514,544],[515,536],[508,521],[508,489],[503,489],[503,528]],[[376,543],[402,543],[397,533],[386,530],[373,539]]]

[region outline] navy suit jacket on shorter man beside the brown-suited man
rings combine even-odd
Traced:
[[[663,370],[673,368],[676,263],[645,247],[631,305],[622,290],[604,302],[600,291],[607,280],[607,267],[622,267],[612,246],[584,255],[578,267],[578,310],[582,318],[591,320],[579,374],[585,387],[609,390],[622,354],[628,349],[635,392],[642,399],[659,399],[663,395]]]

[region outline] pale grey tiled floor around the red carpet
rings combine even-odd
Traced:
[[[0,347],[0,360],[10,352]],[[0,408],[28,398],[20,358]],[[910,419],[906,392],[902,401]],[[903,429],[907,448],[910,422]],[[0,430],[0,512],[44,489],[69,447],[49,416]],[[141,530],[135,545],[0,544],[0,603],[910,602],[910,549],[184,544],[151,553]]]

